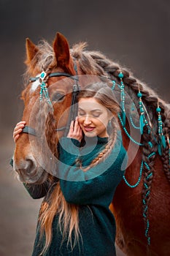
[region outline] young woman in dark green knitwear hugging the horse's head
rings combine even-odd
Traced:
[[[67,137],[59,140],[59,179],[42,186],[25,184],[32,197],[45,196],[32,256],[116,255],[115,219],[109,205],[125,172],[123,160],[127,161],[118,111],[106,83],[80,91],[78,116]],[[16,125],[15,141],[25,124]]]

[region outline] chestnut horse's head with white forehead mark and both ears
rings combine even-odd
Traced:
[[[43,162],[49,161],[49,156],[50,159],[56,157],[58,138],[67,126],[76,83],[70,77],[76,75],[76,71],[69,44],[59,33],[53,48],[45,42],[34,45],[26,39],[26,55],[26,76],[31,78],[22,92],[22,119],[26,121],[26,129],[16,142],[13,166],[20,181],[41,184],[49,176]],[[45,145],[50,148],[51,155]]]

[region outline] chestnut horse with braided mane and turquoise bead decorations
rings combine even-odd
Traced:
[[[26,39],[26,78],[34,78],[22,92],[23,120],[29,127],[16,143],[14,170],[20,181],[28,184],[53,179],[49,171],[52,165],[48,162],[55,162],[58,138],[68,127],[72,115],[69,107],[74,105],[74,85],[79,84],[82,89],[87,84],[83,75],[90,75],[92,80],[108,80],[108,84],[120,89],[123,144],[132,159],[110,206],[117,224],[116,243],[125,255],[170,255],[168,105],[127,69],[101,53],[84,48],[85,43],[80,43],[69,49],[66,38],[59,33],[53,47],[45,41],[34,45]],[[134,115],[132,107],[137,109],[138,115]],[[132,135],[132,129],[140,130],[139,141]],[[40,131],[45,133],[51,155],[43,149],[38,153],[33,149],[41,143]],[[45,148],[43,142],[42,148]]]

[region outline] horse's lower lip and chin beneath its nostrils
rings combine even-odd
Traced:
[[[18,180],[26,184],[42,184],[47,180],[48,173],[45,170],[41,170],[34,176],[19,175],[17,173]]]

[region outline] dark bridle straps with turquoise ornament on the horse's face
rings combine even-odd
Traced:
[[[47,102],[49,103],[50,106],[52,106],[52,103],[50,101],[50,97],[48,95],[48,91],[47,91],[47,87],[46,87],[46,83],[48,78],[54,78],[54,77],[61,77],[64,76],[66,78],[72,78],[74,80],[74,85],[73,85],[73,89],[72,89],[72,103],[71,103],[71,107],[69,110],[69,118],[66,124],[66,127],[60,127],[55,129],[56,132],[58,131],[63,131],[64,135],[67,135],[67,133],[69,132],[69,127],[72,121],[75,120],[76,116],[77,116],[77,94],[80,91],[80,86],[78,85],[77,81],[77,67],[76,65],[74,65],[74,69],[76,71],[76,75],[71,75],[69,73],[66,72],[53,72],[53,73],[47,73],[45,71],[42,71],[42,73],[35,77],[35,78],[30,78],[29,82],[35,82],[36,80],[39,80],[39,85],[40,85],[40,101],[42,100],[42,97],[44,96],[47,99]],[[29,126],[25,126],[23,128],[23,133],[27,133],[29,135],[34,135],[36,136],[36,130],[34,128],[31,128]]]

